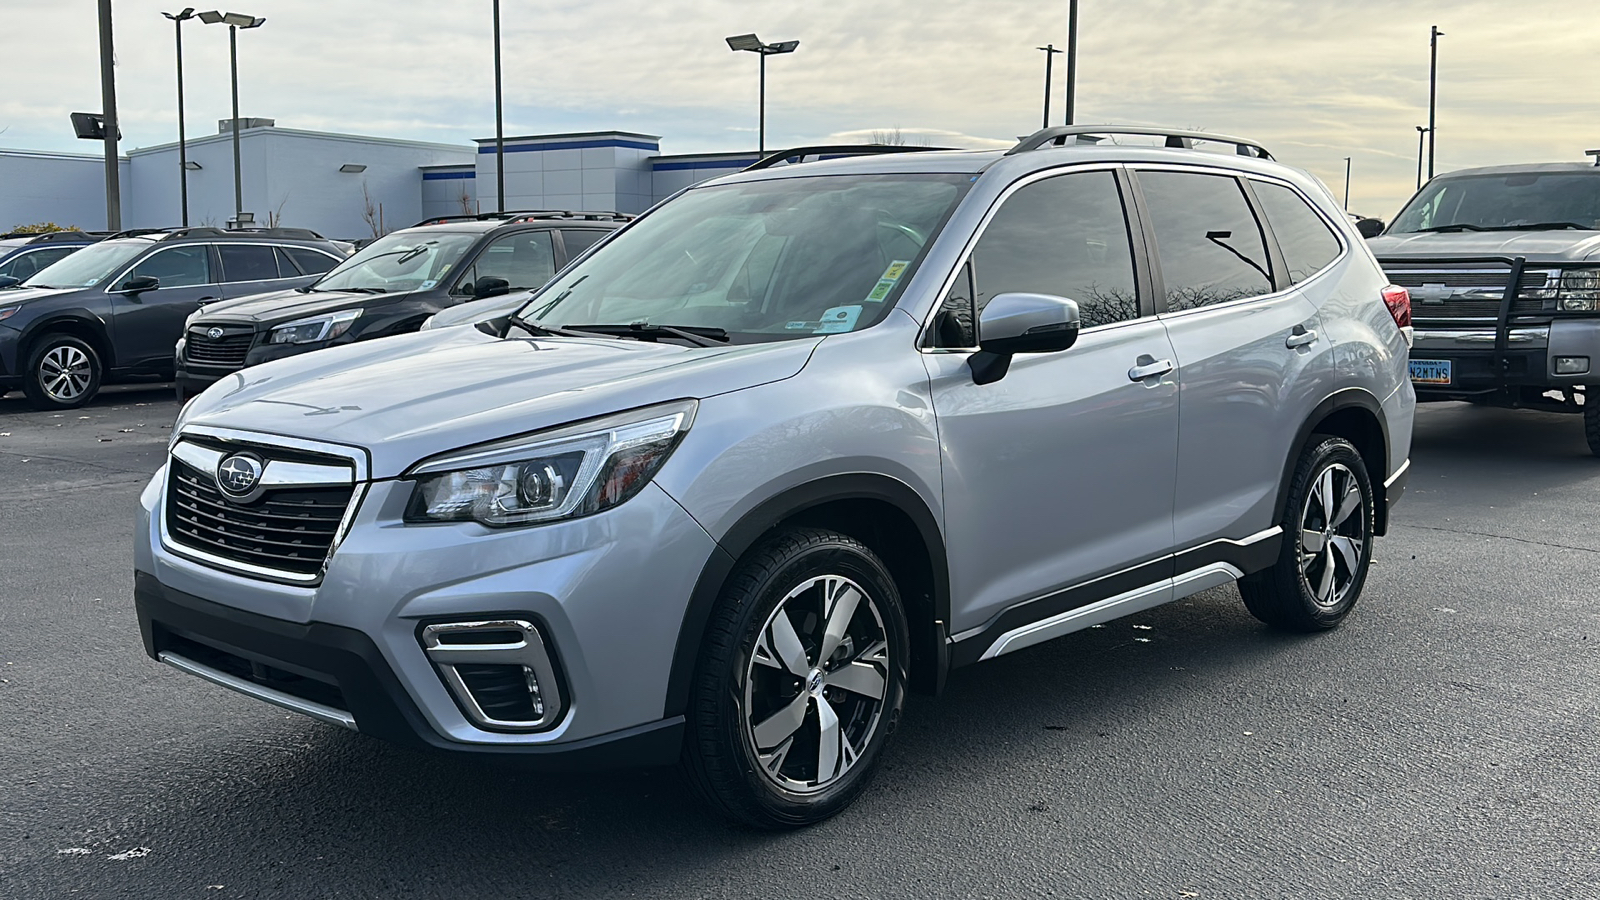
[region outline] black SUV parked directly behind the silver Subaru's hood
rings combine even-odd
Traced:
[[[432,218],[387,234],[310,287],[192,315],[178,343],[178,396],[248,365],[416,331],[440,309],[542,287],[630,218],[518,210]]]

